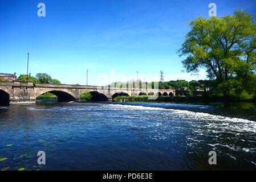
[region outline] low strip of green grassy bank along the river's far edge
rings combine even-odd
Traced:
[[[160,96],[156,100],[148,100],[148,96],[117,96],[115,102],[256,102],[255,98],[241,99],[235,97],[225,98],[223,96]]]

